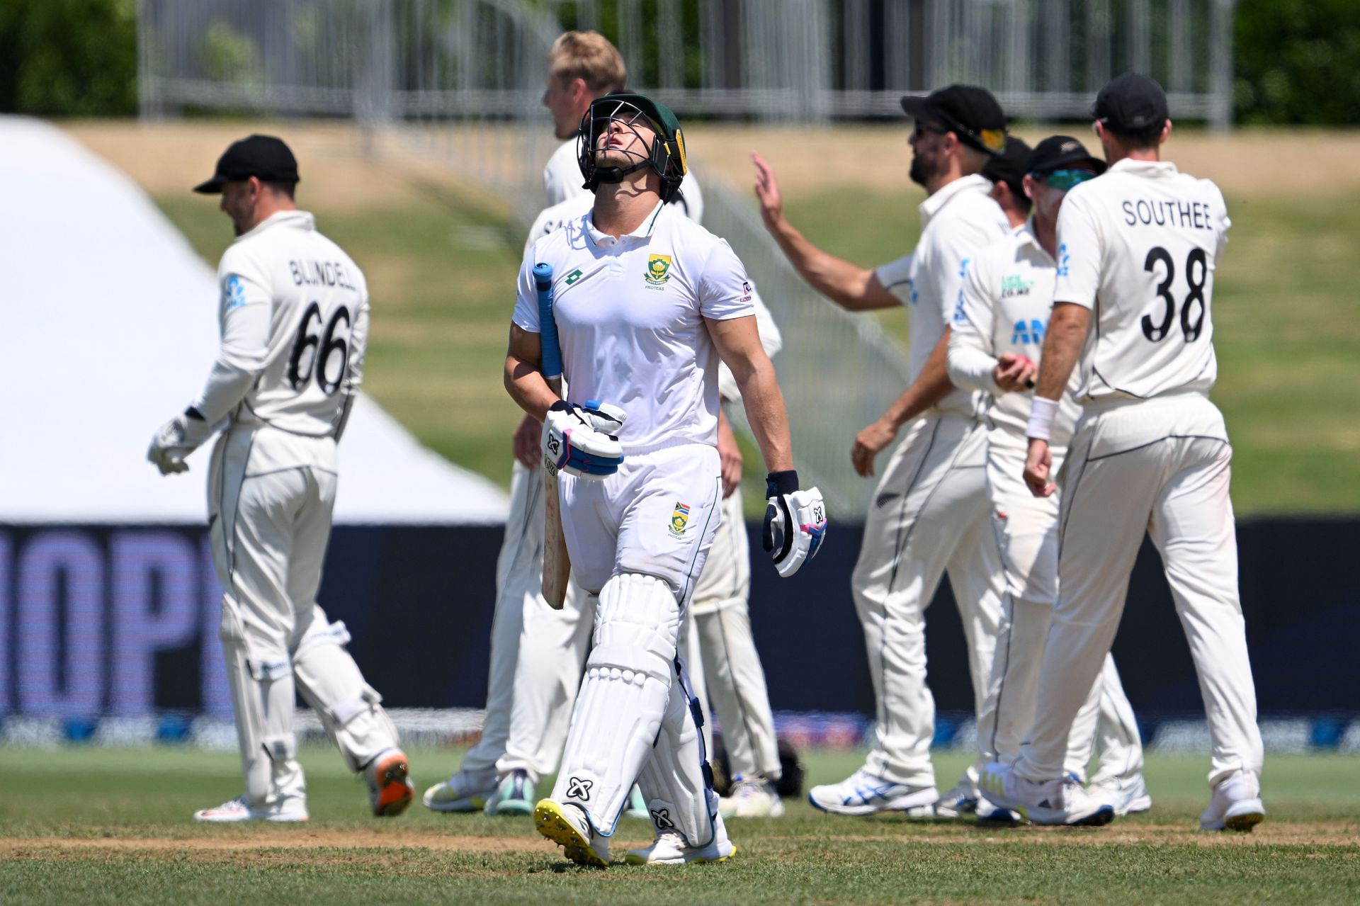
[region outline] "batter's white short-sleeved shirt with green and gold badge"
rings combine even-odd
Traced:
[[[624,453],[717,445],[718,354],[704,318],[755,314],[745,268],[725,239],[657,204],[619,239],[592,214],[534,242],[520,268],[514,322],[539,333],[533,265],[552,265],[563,378],[574,401],[623,407]]]

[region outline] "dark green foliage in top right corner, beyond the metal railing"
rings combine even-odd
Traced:
[[[1360,125],[1360,3],[1239,3],[1235,24],[1239,122]]]

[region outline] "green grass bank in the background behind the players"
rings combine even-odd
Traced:
[[[230,241],[226,218],[203,199],[156,201],[215,263]],[[831,185],[790,195],[786,208],[813,242],[870,267],[914,245],[918,201],[906,185]],[[1214,276],[1213,399],[1234,441],[1238,513],[1357,511],[1360,309],[1350,249],[1360,197],[1342,190],[1229,204],[1231,242]],[[472,195],[447,192],[400,208],[321,204],[316,212],[369,275],[369,392],[422,442],[507,486],[518,411],[500,370],[521,229]],[[904,312],[884,320],[904,346]],[[753,449],[747,460],[758,472]]]

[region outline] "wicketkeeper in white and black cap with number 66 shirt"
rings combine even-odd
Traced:
[[[218,283],[222,348],[199,399],[147,452],[162,475],[222,430],[208,471],[208,525],[222,582],[222,648],[246,789],[204,822],[307,820],[292,733],[294,690],[321,718],[374,815],[413,786],[382,697],[317,605],[336,495],[336,443],[362,380],[369,288],[344,250],[294,205],[298,163],[283,141],[234,143],[194,188],[222,195],[237,239]]]

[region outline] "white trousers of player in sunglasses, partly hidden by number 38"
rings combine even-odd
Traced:
[[[1054,452],[1059,469],[1065,450]],[[1024,439],[993,427],[987,438],[987,487],[993,531],[1001,546],[1005,599],[987,698],[978,717],[986,760],[1010,763],[1034,722],[1035,688],[1058,599],[1058,499],[1035,497],[1024,483]],[[1142,773],[1142,740],[1114,658],[1072,724],[1064,773],[1085,779],[1091,752],[1095,779],[1133,779]]]

